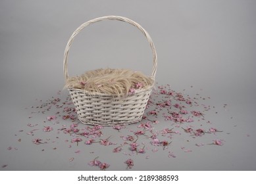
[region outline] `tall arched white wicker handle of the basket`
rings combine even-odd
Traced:
[[[143,35],[145,35],[145,37],[147,38],[147,41],[149,42],[151,50],[153,52],[153,70],[152,70],[151,78],[153,78],[153,80],[155,80],[155,73],[157,72],[157,52],[155,50],[155,45],[154,45],[150,35],[147,33],[146,30],[144,30],[140,26],[140,24],[138,24],[137,22],[134,22],[133,20],[130,20],[129,18],[125,18],[125,17],[122,17],[122,16],[102,16],[102,17],[99,17],[99,18],[95,18],[95,19],[89,20],[88,22],[85,22],[84,24],[79,26],[73,32],[70,39],[68,39],[68,43],[66,44],[66,49],[64,51],[63,72],[64,72],[65,80],[68,80],[68,66],[67,66],[67,64],[68,64],[68,52],[69,52],[70,46],[71,46],[71,44],[74,40],[74,37],[79,32],[81,32],[86,26],[89,26],[92,23],[103,21],[103,20],[120,20],[122,22],[127,22],[127,23],[131,24],[132,26],[137,27],[143,33]]]

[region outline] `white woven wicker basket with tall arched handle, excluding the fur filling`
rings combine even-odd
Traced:
[[[149,34],[140,26],[140,24],[122,16],[103,16],[95,18],[88,22],[85,22],[79,26],[74,33],[71,35],[66,49],[64,51],[63,60],[63,72],[65,80],[68,80],[67,63],[68,63],[68,51],[70,45],[74,40],[74,37],[82,31],[86,26],[92,23],[103,21],[103,20],[120,20],[136,26],[143,35],[149,41],[151,50],[153,51],[153,70],[151,78],[155,81],[155,73],[157,70],[157,53],[155,46]],[[68,88],[78,119],[83,124],[90,125],[101,125],[101,126],[116,126],[116,125],[128,125],[135,122],[140,122],[151,94],[151,90],[154,83],[147,89],[136,89],[134,95],[128,97],[113,97],[113,95],[107,94],[91,94],[86,93],[82,89]]]

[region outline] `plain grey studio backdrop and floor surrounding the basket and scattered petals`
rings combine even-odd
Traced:
[[[128,158],[134,160],[131,170],[255,170],[255,12],[256,2],[247,0],[1,1],[0,170],[100,170],[88,164],[98,156],[110,164],[106,170],[126,170]],[[161,148],[130,156],[100,144],[76,146],[70,143],[72,137],[56,129],[56,135],[46,136],[41,128],[53,123],[46,117],[54,114],[31,114],[32,106],[52,97],[65,101],[63,53],[68,38],[80,24],[106,15],[125,16],[149,32],[157,49],[157,85],[169,84],[190,97],[209,97],[197,102],[212,107],[205,120],[222,130],[218,135],[224,145],[207,145],[212,138],[205,135],[196,138],[205,145],[196,147],[192,137],[182,134],[170,145],[175,158]],[[70,76],[106,67],[151,74],[151,49],[138,29],[124,22],[97,22],[76,37],[68,58]],[[158,120],[159,129],[168,124],[163,116]],[[60,118],[58,126],[62,124],[69,126]],[[102,138],[111,135],[119,144],[122,133],[139,125],[120,132],[105,127]],[[39,130],[28,135],[31,129]],[[38,137],[49,144],[35,145],[32,140]]]

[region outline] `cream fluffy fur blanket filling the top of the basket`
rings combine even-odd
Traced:
[[[68,78],[66,88],[82,89],[87,93],[103,93],[118,97],[132,95],[138,89],[147,89],[153,80],[128,69],[97,69],[90,70],[81,76]]]

